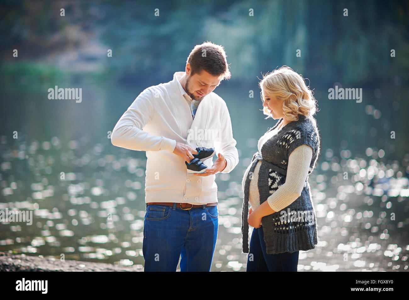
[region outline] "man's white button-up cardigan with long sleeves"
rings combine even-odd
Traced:
[[[121,116],[111,134],[113,145],[146,151],[145,202],[207,204],[218,202],[216,175],[187,173],[184,158],[173,153],[176,142],[214,148],[222,153],[229,173],[238,164],[236,140],[226,102],[211,92],[200,101],[195,118],[187,93],[173,80],[146,88]],[[211,167],[213,158],[204,163]]]

